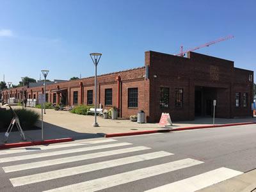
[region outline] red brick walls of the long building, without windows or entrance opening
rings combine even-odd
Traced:
[[[189,52],[188,58],[173,56],[160,52],[145,52],[145,66],[149,66],[149,78],[145,79],[145,67],[98,76],[97,103],[109,109],[118,105],[118,87],[116,77],[120,76],[120,113],[123,118],[144,110],[147,122],[158,122],[161,113],[170,113],[172,120],[193,120],[195,118],[195,86],[208,88],[205,98],[216,99],[216,117],[233,118],[235,116],[252,116],[250,103],[253,100],[253,84],[248,80],[252,71],[234,68],[234,62]],[[169,87],[169,107],[159,108],[160,87]],[[105,105],[105,89],[112,88],[113,104]],[[138,108],[129,109],[128,88],[138,88]],[[175,107],[175,88],[183,88],[184,106]],[[87,104],[87,90],[93,90],[94,77],[78,79],[58,84],[47,85],[49,101],[53,100],[54,90],[67,89],[68,105],[73,105],[73,93],[78,92],[78,104]],[[17,91],[16,91],[17,90]],[[42,86],[25,88],[28,95],[42,92]],[[31,90],[33,91],[31,93]],[[22,88],[12,89],[22,92]],[[51,95],[50,95],[51,92]],[[236,108],[235,93],[248,93],[248,107]],[[4,90],[7,99],[8,91]],[[60,101],[60,100],[59,100]],[[241,100],[242,104],[242,100]]]

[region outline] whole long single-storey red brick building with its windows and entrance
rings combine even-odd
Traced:
[[[25,88],[26,97],[37,99],[43,86]],[[4,90],[4,100],[9,90]],[[98,77],[97,103],[116,106],[120,117],[145,111],[147,122],[158,122],[161,113],[172,120],[211,116],[217,100],[216,117],[253,116],[253,71],[234,67],[233,61],[189,52],[188,58],[145,52],[145,66]],[[22,99],[22,88],[12,88],[11,97]],[[50,84],[48,102],[76,106],[94,102],[94,77]]]

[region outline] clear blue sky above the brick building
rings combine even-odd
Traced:
[[[93,76],[141,67],[148,50],[175,54],[222,36],[196,52],[256,72],[256,1],[0,0],[0,80]]]

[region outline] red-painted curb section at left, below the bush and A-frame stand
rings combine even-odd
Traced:
[[[53,139],[53,140],[44,140],[44,141],[29,141],[29,142],[21,142],[21,143],[6,143],[4,145],[0,145],[0,149],[4,148],[15,148],[15,147],[28,147],[32,145],[45,145],[51,143],[63,143],[68,141],[74,141],[73,138],[61,138],[61,139]]]

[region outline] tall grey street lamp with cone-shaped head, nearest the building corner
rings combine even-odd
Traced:
[[[92,52],[90,53],[90,56],[92,58],[92,61],[94,63],[94,66],[95,66],[95,77],[94,77],[94,93],[95,93],[95,96],[94,96],[94,104],[95,104],[95,113],[94,113],[94,117],[95,117],[95,121],[94,121],[94,124],[93,124],[93,127],[99,127],[99,124],[97,123],[97,65],[100,61],[100,57],[101,57],[101,53],[99,52]]]

